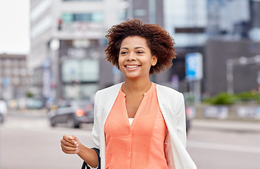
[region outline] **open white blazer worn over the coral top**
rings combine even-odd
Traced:
[[[92,139],[94,147],[100,149],[101,169],[105,169],[106,142],[104,125],[113,107],[122,83],[99,90],[94,99],[94,126]],[[196,169],[187,153],[185,106],[183,95],[169,87],[156,84],[156,92],[163,118],[168,127],[165,154],[171,169]]]

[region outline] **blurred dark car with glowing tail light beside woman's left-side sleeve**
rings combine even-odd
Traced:
[[[66,123],[68,127],[80,127],[82,123],[93,123],[93,103],[91,101],[70,101],[51,108],[48,117],[51,126]]]

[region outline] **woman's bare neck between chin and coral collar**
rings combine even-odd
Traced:
[[[132,80],[132,79],[125,79],[125,83],[123,84],[123,92],[125,94],[128,93],[144,93],[147,92],[151,87],[151,81],[148,78]]]

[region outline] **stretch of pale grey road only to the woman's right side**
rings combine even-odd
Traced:
[[[194,120],[187,151],[199,169],[260,169],[260,124]]]

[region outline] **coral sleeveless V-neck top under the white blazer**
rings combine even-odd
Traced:
[[[130,125],[125,94],[118,97],[104,126],[106,169],[168,169],[164,154],[167,126],[159,107],[156,84],[144,93]]]

